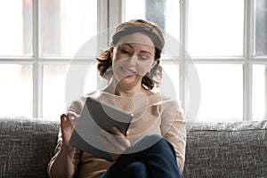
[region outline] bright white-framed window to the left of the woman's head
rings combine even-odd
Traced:
[[[0,10],[1,116],[58,118],[70,70],[86,66],[90,77],[77,87],[96,88],[95,56],[77,53],[97,34],[96,0],[11,0]]]

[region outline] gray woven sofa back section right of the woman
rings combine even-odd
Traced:
[[[267,177],[267,121],[187,123],[183,177]]]

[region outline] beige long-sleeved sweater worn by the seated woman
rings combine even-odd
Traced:
[[[134,120],[128,129],[128,138],[131,143],[146,134],[160,134],[164,136],[167,141],[173,144],[177,164],[182,172],[185,159],[186,131],[183,111],[177,101],[166,98],[161,93],[154,93],[150,96],[137,94],[133,98],[117,96],[110,93],[94,92],[81,97],[77,101],[73,101],[67,110],[68,115],[79,117],[88,96],[134,113]],[[48,166],[49,174],[49,167],[53,164],[57,153],[61,150],[61,140],[60,132],[58,144],[55,148],[55,155]],[[73,164],[76,167],[78,166],[76,169],[77,177],[90,178],[98,177],[112,165],[109,161],[95,158],[89,153],[77,149],[75,149],[73,155]]]

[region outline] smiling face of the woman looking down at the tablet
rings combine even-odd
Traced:
[[[156,63],[155,47],[149,36],[123,36],[111,51],[114,77],[120,85],[140,85],[142,77]]]

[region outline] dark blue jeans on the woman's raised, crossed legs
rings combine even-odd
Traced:
[[[150,147],[142,149],[143,145],[150,144]],[[158,134],[143,137],[125,152],[126,154],[117,158],[117,161],[104,174],[101,174],[100,178],[181,177],[173,145]]]

